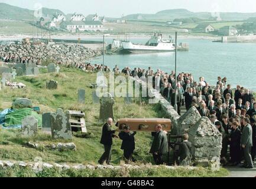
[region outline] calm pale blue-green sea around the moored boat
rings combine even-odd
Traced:
[[[111,43],[111,38],[106,41]],[[148,38],[131,38],[133,43],[146,43]],[[256,44],[241,43],[212,43],[210,40],[183,39],[178,42],[189,43],[189,51],[178,52],[178,72],[192,73],[196,80],[200,76],[210,84],[216,84],[217,77],[227,77],[232,88],[236,84],[256,90]],[[125,66],[141,67],[167,72],[174,70],[174,53],[150,54],[115,54],[105,56],[105,65],[114,67],[115,64],[123,69]],[[90,60],[91,63],[102,63],[102,57]]]

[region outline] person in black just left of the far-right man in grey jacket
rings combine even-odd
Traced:
[[[238,128],[238,122],[232,123],[231,142],[230,142],[230,157],[233,166],[241,162],[241,131]]]

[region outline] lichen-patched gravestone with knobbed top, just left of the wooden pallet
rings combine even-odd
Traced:
[[[50,114],[51,117],[51,136],[53,138],[72,139],[69,114],[63,113],[62,109],[57,109],[56,114]]]

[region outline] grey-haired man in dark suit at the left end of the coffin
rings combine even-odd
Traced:
[[[111,130],[111,125],[113,123],[112,118],[108,118],[105,125],[102,128],[101,144],[104,145],[105,152],[102,154],[99,159],[99,164],[103,164],[106,161],[106,164],[109,164],[111,161],[111,149],[112,149],[112,138],[116,137],[115,131]]]

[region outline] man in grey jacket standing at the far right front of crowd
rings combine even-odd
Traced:
[[[242,148],[244,149],[245,163],[243,167],[245,168],[254,167],[252,163],[252,158],[251,158],[252,127],[249,123],[250,123],[249,118],[242,119],[242,124],[244,125],[244,129],[242,129],[241,145],[242,145]]]

